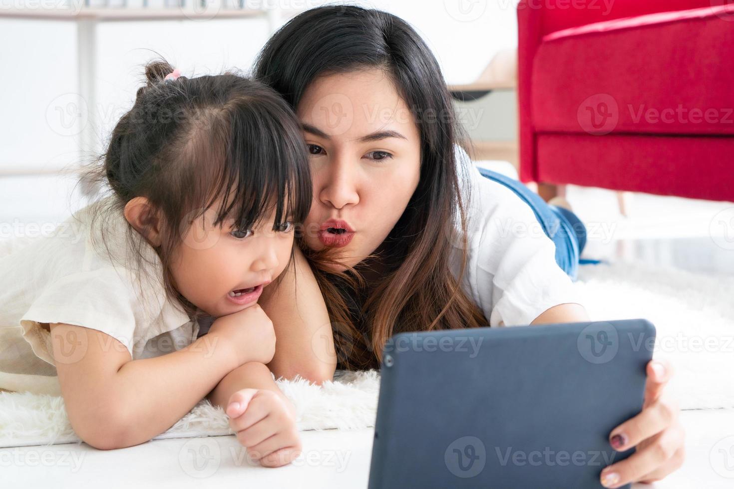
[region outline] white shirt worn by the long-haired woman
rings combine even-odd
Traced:
[[[520,326],[559,304],[580,304],[570,277],[556,263],[556,245],[531,207],[514,191],[479,173],[456,147],[468,214],[468,257],[462,290],[490,326]],[[455,235],[459,235],[458,232]],[[450,266],[459,274],[461,246],[452,240]]]

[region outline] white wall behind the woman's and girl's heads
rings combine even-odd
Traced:
[[[26,8],[56,7],[60,1],[79,0],[0,0],[0,12],[23,3]],[[334,3],[272,1],[288,12]],[[449,84],[473,81],[497,51],[517,43],[513,0],[351,3],[388,10],[412,23],[432,47]],[[268,37],[266,18],[99,24],[96,100],[89,110],[97,111],[101,125],[94,151],[80,153],[79,131],[66,127],[83,109],[66,103],[78,91],[75,23],[0,17],[0,173],[3,168],[51,169],[91,158],[130,108],[142,84],[142,66],[156,52],[186,75],[228,67],[249,70]]]

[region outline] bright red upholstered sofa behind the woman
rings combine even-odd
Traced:
[[[520,180],[734,201],[734,4],[520,0]]]

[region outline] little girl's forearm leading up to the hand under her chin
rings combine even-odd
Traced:
[[[119,448],[163,433],[237,367],[228,345],[206,334],[181,350],[128,361],[117,371],[116,397],[126,403],[126,429]]]

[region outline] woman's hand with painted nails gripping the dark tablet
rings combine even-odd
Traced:
[[[601,483],[605,487],[654,482],[683,464],[685,433],[678,419],[677,403],[664,393],[671,376],[668,362],[653,360],[647,364],[642,412],[614,428],[609,435],[615,450],[622,452],[636,446],[636,452],[604,468]]]

